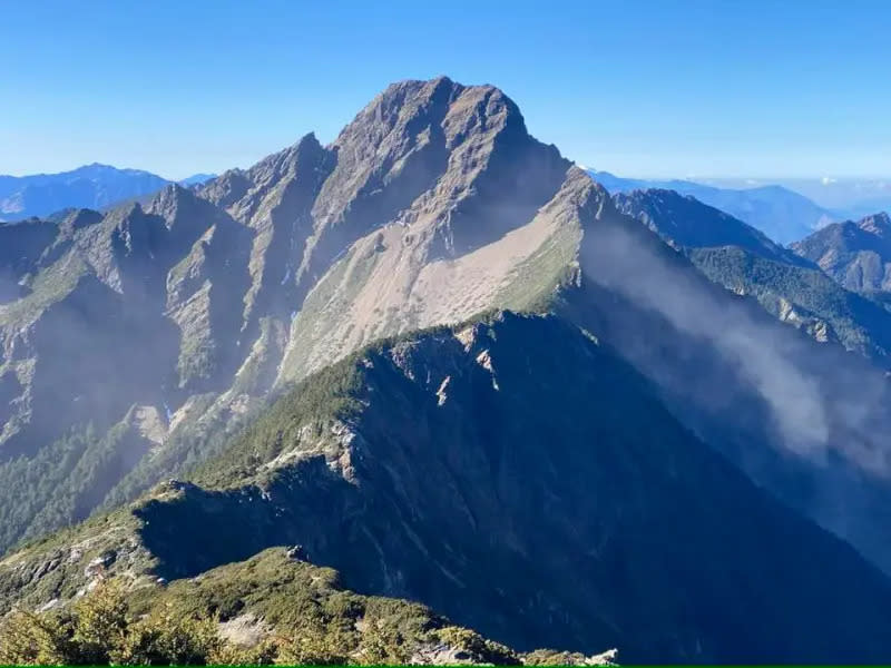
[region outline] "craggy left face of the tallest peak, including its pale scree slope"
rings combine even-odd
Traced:
[[[0,460],[153,406],[170,433],[109,499],[126,498],[276,384],[380,335],[520,305],[512,274],[559,232],[538,209],[568,168],[500,90],[405,81],[329,147],[307,135],[196,190],[0,228]],[[11,510],[9,534],[51,528],[25,508],[46,502]]]

